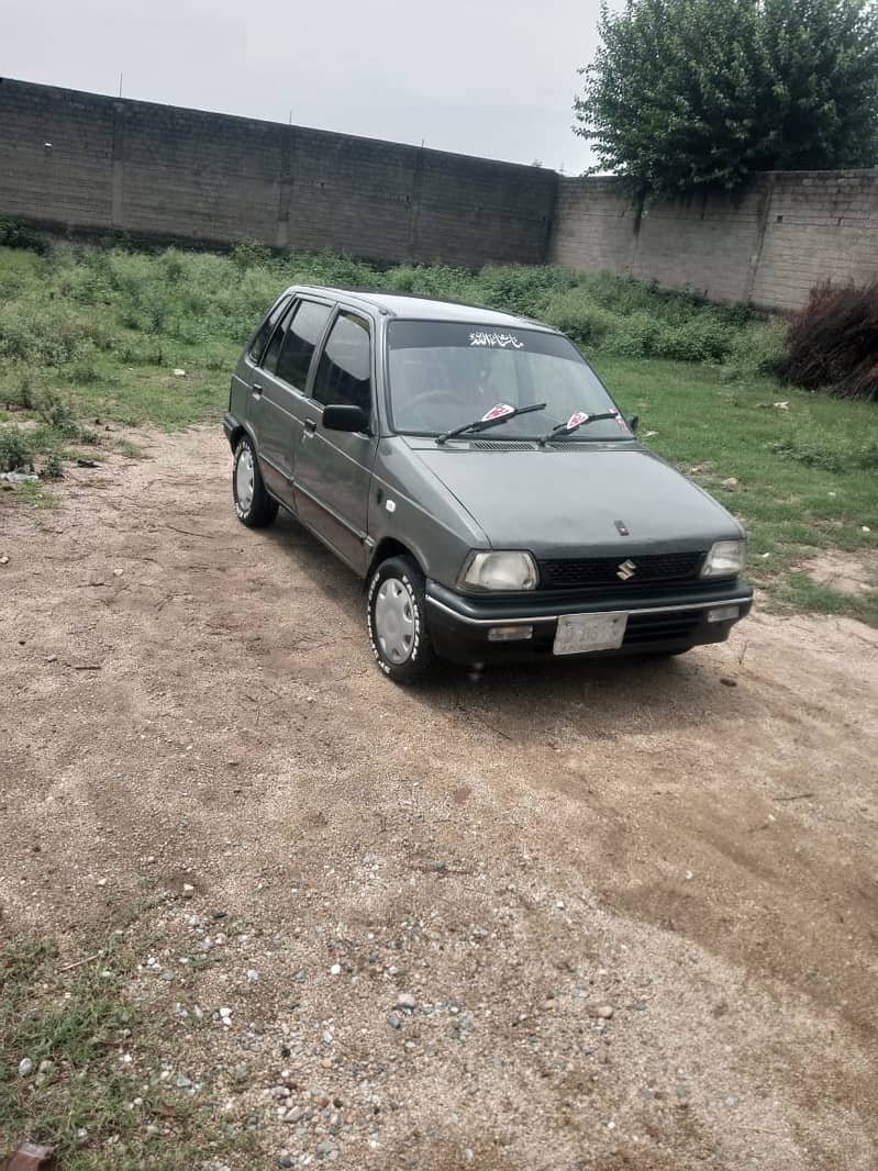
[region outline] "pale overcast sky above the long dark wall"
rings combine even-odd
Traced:
[[[578,174],[599,0],[2,0],[0,75]]]

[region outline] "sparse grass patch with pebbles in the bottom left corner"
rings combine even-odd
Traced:
[[[112,941],[73,970],[46,938],[0,950],[0,1150],[48,1143],[66,1171],[203,1165],[215,1123],[160,1081],[166,1036],[124,995],[133,965]]]

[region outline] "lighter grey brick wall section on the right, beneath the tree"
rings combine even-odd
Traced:
[[[878,278],[878,170],[766,173],[738,196],[647,201],[639,217],[613,179],[562,179],[549,255],[796,309],[819,281]]]

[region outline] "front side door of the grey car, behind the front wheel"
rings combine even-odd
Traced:
[[[370,322],[339,309],[313,375],[295,463],[299,515],[357,573],[368,566],[369,481],[378,446],[373,425],[373,342]],[[362,406],[369,433],[327,431],[323,408]]]

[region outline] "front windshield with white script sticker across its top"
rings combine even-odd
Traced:
[[[512,416],[491,439],[536,439],[587,415],[615,411],[603,383],[576,347],[536,329],[443,321],[393,321],[387,329],[391,423],[404,434],[443,436],[479,419]],[[466,439],[468,436],[462,436]],[[625,420],[596,420],[564,433],[567,443],[630,439]]]

